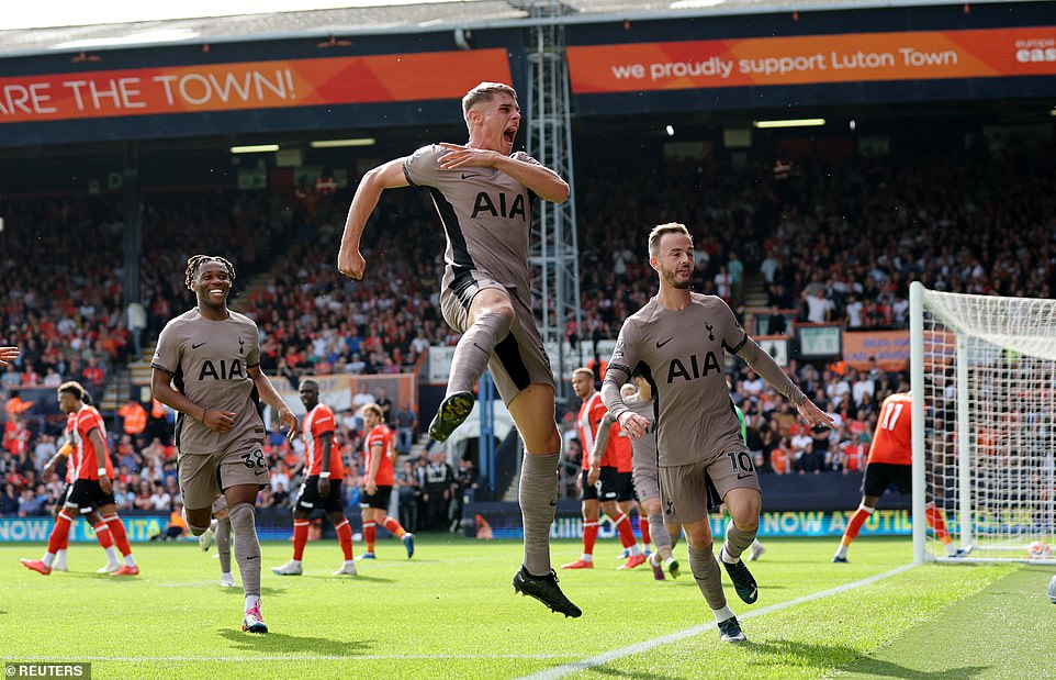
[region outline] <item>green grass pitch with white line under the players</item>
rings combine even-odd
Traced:
[[[419,536],[413,560],[379,542],[358,577],[335,578],[340,550],[310,543],[305,573],[278,577],[289,543],[262,546],[263,616],[239,631],[243,595],[221,589],[196,543],[136,545],[142,576],[94,573],[98,546],[74,545],[70,571],[42,577],[0,547],[0,658],[91,661],[92,678],[1056,678],[1052,569],[1011,565],[907,568],[909,539],[860,538],[833,565],[835,539],[771,539],[752,564],[754,605],[723,573],[749,642],[719,642],[684,546],[678,580],[596,568],[560,572],[581,618],[515,595],[519,542]],[[357,550],[362,549],[357,544]],[[580,554],[555,542],[554,562]],[[236,579],[238,578],[237,568]],[[240,580],[238,581],[240,586]]]

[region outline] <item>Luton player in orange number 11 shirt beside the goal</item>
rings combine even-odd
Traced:
[[[862,525],[876,511],[880,495],[888,487],[895,487],[902,493],[910,493],[913,488],[912,479],[912,428],[910,413],[912,411],[912,392],[891,394],[880,404],[876,432],[869,446],[869,457],[865,464],[865,479],[862,482],[862,503],[847,522],[843,532],[840,547],[832,556],[834,562],[847,561],[847,547]],[[928,504],[924,506],[924,519],[928,526],[946,547],[950,557],[960,557],[966,550],[957,548],[946,531],[944,513],[935,505],[931,492],[928,493]]]

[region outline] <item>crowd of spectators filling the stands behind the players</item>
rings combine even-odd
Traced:
[[[1052,297],[1054,158],[1052,144],[1012,140],[835,165],[768,159],[733,167],[659,152],[631,164],[598,155],[581,163],[576,177],[583,315],[571,333],[578,342],[613,338],[649,299],[655,281],[643,230],[666,221],[685,222],[697,236],[694,289],[726,298],[742,316],[767,314],[771,333],[789,330],[783,312],[849,328],[906,327],[911,279],[948,291]],[[61,492],[58,480],[38,478],[59,444],[61,422],[27,417],[20,391],[76,379],[98,401],[139,341],[149,346],[161,325],[187,309],[182,272],[190,248],[233,259],[240,290],[234,305],[260,327],[262,367],[294,386],[306,374],[413,371],[428,346],[453,343],[438,304],[442,234],[428,197],[415,197],[383,198],[364,235],[368,276],[353,282],[334,265],[345,197],[308,203],[233,190],[149,196],[142,210],[142,322],[122,303],[124,270],[114,259],[122,252],[120,201],[5,201],[0,344],[20,345],[22,356],[0,374],[0,514],[48,513]],[[250,285],[256,274],[267,276]],[[762,285],[769,311],[746,308],[750,281]],[[133,337],[131,326],[143,337]],[[789,370],[838,426],[805,431],[784,400],[739,366],[732,398],[744,412],[760,470],[861,469],[876,408],[908,387],[908,375],[795,361]],[[338,421],[341,455],[360,461],[361,421],[352,412]],[[139,433],[123,432],[116,415],[108,422],[117,425],[110,443],[119,509],[167,513],[178,498],[171,414],[151,412]],[[406,455],[417,423],[397,425],[407,431],[401,436]],[[569,439],[562,486],[574,498],[581,453]],[[282,437],[269,442],[272,483],[261,505],[291,504],[299,447]],[[457,519],[458,503],[478,486],[465,465],[454,469],[430,454],[397,464],[400,520],[408,531],[447,528]],[[353,504],[362,466],[348,469],[346,500]]]

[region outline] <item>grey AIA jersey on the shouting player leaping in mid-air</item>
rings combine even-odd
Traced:
[[[443,223],[447,288],[459,274],[476,270],[529,299],[528,239],[531,201],[523,183],[495,168],[445,170],[442,146],[423,146],[407,157],[404,176],[413,186],[428,187]],[[539,165],[524,152],[510,158]]]

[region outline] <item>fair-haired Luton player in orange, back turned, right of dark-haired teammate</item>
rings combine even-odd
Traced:
[[[407,559],[411,559],[414,556],[414,534],[389,516],[396,434],[385,424],[385,412],[378,404],[367,404],[359,413],[363,416],[368,433],[363,445],[367,473],[363,479],[363,501],[360,504],[363,509],[363,540],[367,542],[367,551],[360,559],[374,559],[374,539],[379,524],[403,540],[407,548]]]

